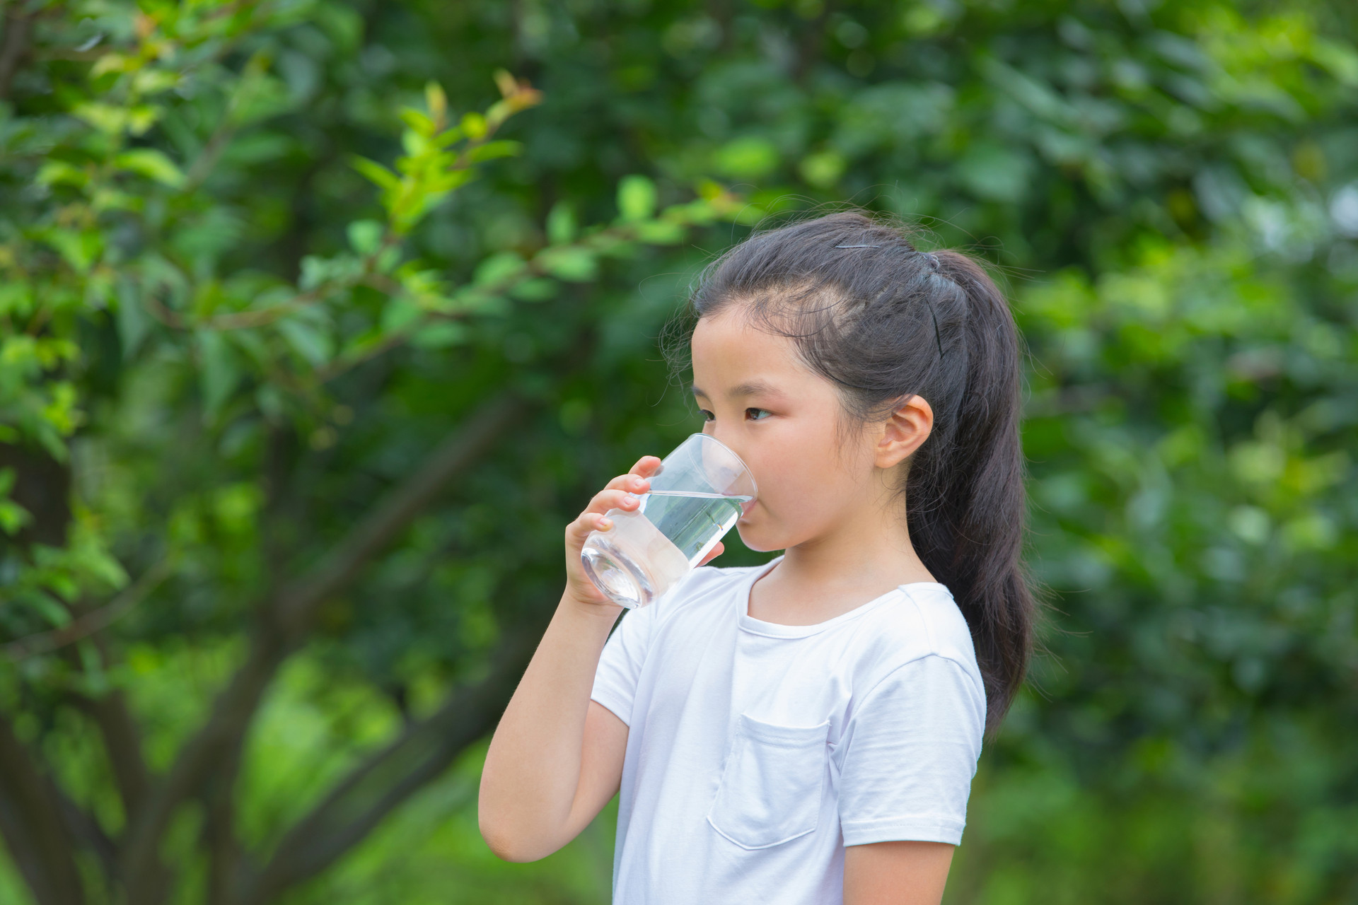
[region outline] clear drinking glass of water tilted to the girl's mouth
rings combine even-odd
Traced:
[[[717,545],[756,493],[740,456],[691,434],[661,460],[636,512],[610,509],[612,528],[589,532],[580,552],[585,574],[615,604],[645,606]]]

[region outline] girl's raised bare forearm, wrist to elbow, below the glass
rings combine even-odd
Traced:
[[[490,739],[481,775],[481,832],[509,860],[569,841],[595,669],[621,608],[562,596]]]

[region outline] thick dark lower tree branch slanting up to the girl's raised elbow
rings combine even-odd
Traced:
[[[490,674],[456,689],[426,720],[350,772],[297,821],[265,868],[242,886],[239,905],[273,901],[334,863],[410,795],[489,731],[523,673],[536,635],[521,625],[496,651]]]

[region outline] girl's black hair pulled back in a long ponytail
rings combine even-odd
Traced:
[[[967,619],[993,735],[1023,684],[1036,613],[1021,558],[1020,335],[974,258],[919,251],[909,232],[862,210],[756,231],[699,274],[665,353],[683,368],[697,320],[739,305],[837,384],[847,423],[885,418],[913,395],[929,402],[933,430],[898,493],[915,552]]]

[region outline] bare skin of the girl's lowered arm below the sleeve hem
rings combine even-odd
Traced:
[[[938,905],[955,847],[872,843],[845,848],[845,905]]]

